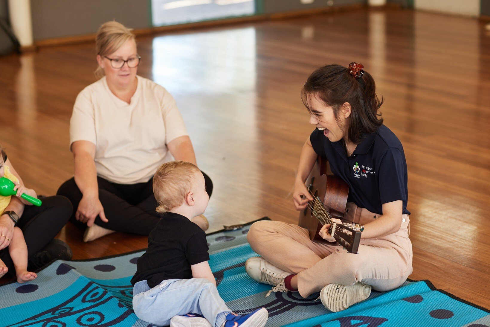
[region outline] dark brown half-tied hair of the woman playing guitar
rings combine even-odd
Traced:
[[[350,103],[352,112],[348,120],[347,137],[354,144],[361,143],[364,136],[383,124],[378,109],[384,100],[378,99],[374,79],[366,71],[362,77],[356,78],[349,74],[349,68],[341,65],[320,67],[308,77],[301,90],[301,99],[308,109],[311,96],[332,106],[337,122],[340,121],[342,105]]]

